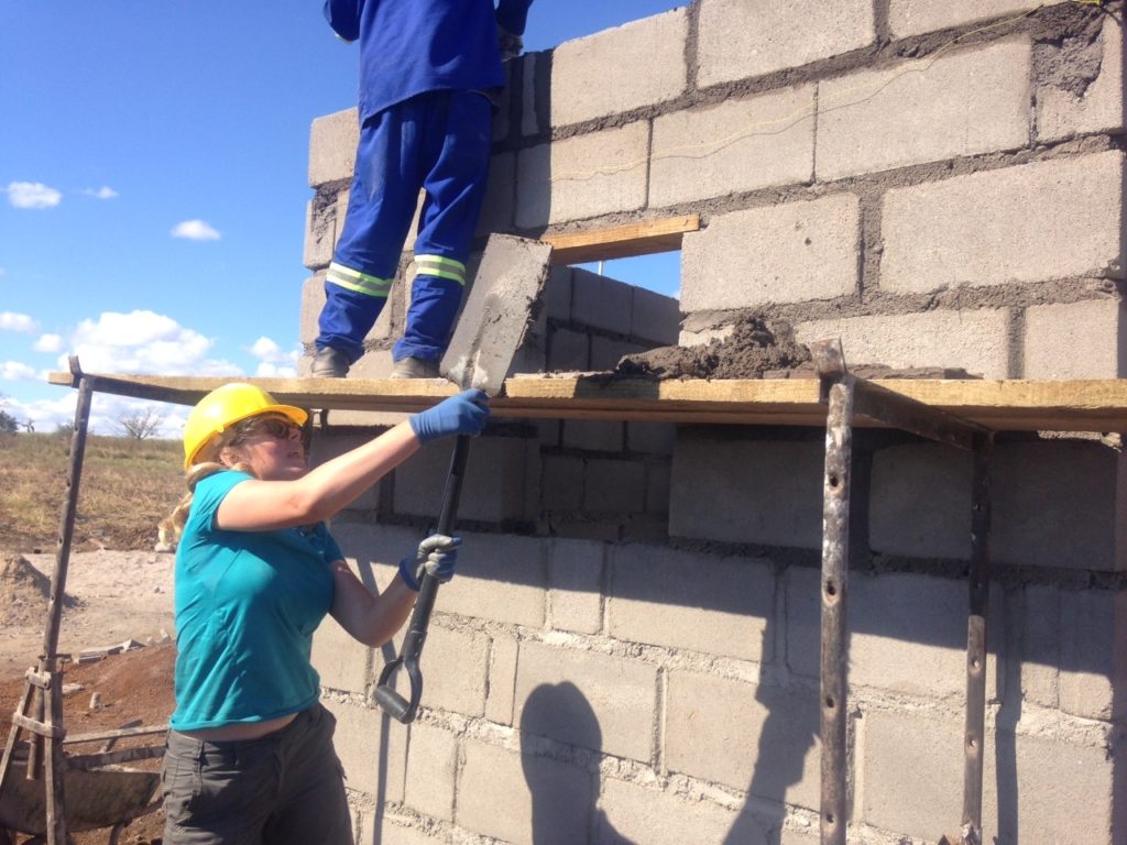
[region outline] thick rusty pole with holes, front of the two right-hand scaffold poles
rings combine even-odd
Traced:
[[[848,783],[849,493],[853,376],[841,345],[815,349],[826,417],[822,508],[822,845],[845,845]]]

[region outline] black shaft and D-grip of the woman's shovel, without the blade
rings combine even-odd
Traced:
[[[458,500],[462,495],[462,478],[465,475],[465,460],[470,454],[469,435],[459,435],[454,442],[454,455],[450,461],[450,474],[446,477],[446,489],[442,497],[442,512],[438,515],[437,533],[451,536],[454,519],[458,516]],[[419,597],[411,612],[411,620],[403,638],[403,650],[399,657],[383,667],[380,681],[375,686],[375,702],[383,712],[397,721],[407,724],[415,720],[423,697],[423,673],[419,669],[419,657],[426,642],[426,630],[431,624],[431,612],[438,597],[438,579],[424,571],[419,584]],[[411,697],[408,701],[396,692],[391,677],[402,667],[411,682]]]

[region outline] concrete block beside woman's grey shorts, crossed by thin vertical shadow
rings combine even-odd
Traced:
[[[402,801],[407,729],[375,709],[321,703],[337,720],[332,745],[345,770],[345,785],[384,801]]]

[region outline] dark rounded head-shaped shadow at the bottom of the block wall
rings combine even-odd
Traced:
[[[635,845],[611,825],[598,809],[598,758],[603,732],[587,697],[569,682],[541,684],[525,701],[521,714],[521,766],[532,793],[532,842],[534,845]],[[574,789],[567,789],[556,760],[542,751],[542,740],[586,749],[589,781],[583,807],[576,804]],[[580,753],[582,756],[582,753]],[[573,781],[574,785],[574,781]]]

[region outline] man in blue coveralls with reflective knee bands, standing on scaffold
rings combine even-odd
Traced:
[[[504,57],[522,48],[532,0],[326,0],[360,39],[360,144],[348,213],[325,279],[312,375],[363,354],[399,266],[419,189],[416,275],[393,379],[433,379],[465,286],[489,171]]]

